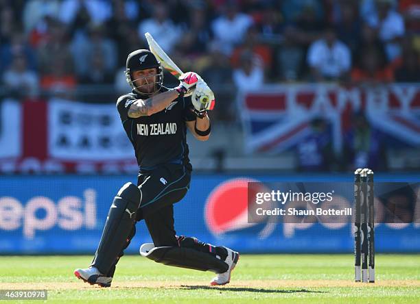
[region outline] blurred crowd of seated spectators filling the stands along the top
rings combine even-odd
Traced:
[[[0,0],[3,92],[126,92],[126,56],[147,47],[146,31],[221,92],[420,81],[417,0]]]

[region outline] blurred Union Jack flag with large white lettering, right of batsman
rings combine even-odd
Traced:
[[[240,94],[245,151],[279,153],[310,136],[311,121],[331,125],[334,150],[351,127],[354,112],[364,110],[371,125],[390,138],[420,146],[420,86],[392,85],[375,90],[334,84],[265,86]]]

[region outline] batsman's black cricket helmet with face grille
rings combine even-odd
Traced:
[[[133,71],[145,70],[148,68],[156,68],[156,75],[154,76],[154,92],[141,92],[140,88],[142,86],[135,86],[134,81],[138,79],[132,79],[131,73]],[[155,92],[161,90],[163,84],[163,69],[161,62],[154,57],[153,53],[148,49],[138,49],[137,51],[131,52],[127,57],[126,62],[126,80],[128,84],[131,86],[133,90],[138,92],[139,94],[146,94],[151,95]],[[148,85],[148,78],[144,77],[146,80],[146,84],[143,86]],[[141,78],[139,78],[141,79]]]

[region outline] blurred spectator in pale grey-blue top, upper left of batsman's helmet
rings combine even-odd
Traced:
[[[75,39],[71,45],[71,53],[75,64],[75,71],[78,77],[86,77],[90,73],[92,66],[91,58],[94,54],[103,54],[105,59],[106,73],[113,73],[117,67],[117,47],[115,42],[105,36],[103,25],[89,25],[89,36]]]

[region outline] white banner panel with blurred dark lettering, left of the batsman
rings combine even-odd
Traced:
[[[133,157],[115,104],[54,99],[48,108],[48,151],[58,160],[127,160]]]

